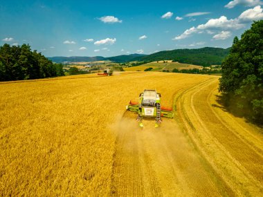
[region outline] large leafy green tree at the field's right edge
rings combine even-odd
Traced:
[[[222,72],[219,91],[228,104],[263,124],[263,20],[255,21],[240,40],[235,37]]]

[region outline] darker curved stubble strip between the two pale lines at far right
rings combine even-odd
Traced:
[[[249,178],[253,178],[252,176],[254,176],[258,181],[262,182],[263,160],[260,156],[260,153],[255,151],[255,149],[253,149],[251,145],[248,145],[248,143],[246,143],[242,138],[239,138],[239,136],[235,134],[235,131],[230,129],[230,126],[224,124],[224,122],[221,121],[218,115],[215,114],[214,111],[212,111],[210,103],[208,102],[208,97],[210,96],[210,91],[211,89],[213,90],[212,87],[215,86],[215,84],[216,83],[212,83],[209,85],[209,87],[211,88],[209,88],[208,94],[206,93],[206,91],[201,91],[201,89],[199,89],[199,91],[197,91],[196,93],[192,94],[192,109],[194,109],[194,112],[196,113],[197,117],[202,117],[202,120],[201,118],[199,118],[201,124],[205,125],[206,122],[205,127],[207,128],[207,131],[210,132],[212,137],[217,139],[217,141],[220,144],[222,144],[223,147],[225,147],[224,151],[229,152],[229,157],[233,160],[237,160],[237,165],[241,165],[240,168],[246,168],[243,169],[244,173],[246,173],[246,176],[248,176]],[[196,98],[194,99],[195,96]],[[206,97],[205,100],[201,99],[204,97]],[[194,107],[197,106],[197,104],[194,104],[194,101],[198,101],[198,106],[201,107]],[[199,113],[197,113],[197,111],[199,111]],[[206,111],[206,113],[201,114],[201,111]],[[215,124],[217,126],[215,126]],[[250,174],[252,176],[250,176]],[[258,185],[260,185],[260,183],[258,183]]]

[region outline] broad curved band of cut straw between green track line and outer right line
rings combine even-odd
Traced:
[[[237,195],[260,194],[262,186],[257,178],[261,178],[262,174],[253,171],[255,165],[246,165],[247,161],[256,160],[257,169],[262,170],[261,160],[258,158],[260,154],[251,149],[248,143],[244,143],[244,140],[237,138],[230,130],[230,126],[224,125],[215,115],[215,111],[211,111],[208,97],[217,85],[215,80],[212,81],[198,84],[181,93],[177,101],[177,115],[181,120],[181,126],[185,128],[210,165]],[[238,146],[240,143],[242,147]],[[238,154],[240,151],[244,154]]]

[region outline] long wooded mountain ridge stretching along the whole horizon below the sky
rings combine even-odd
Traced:
[[[131,54],[131,55],[118,55],[114,57],[48,57],[51,61],[56,63],[62,62],[96,62],[110,60],[112,62],[155,62],[162,60],[174,60],[185,64],[194,64],[199,66],[219,65],[224,58],[229,54],[230,48],[194,48],[194,49],[175,49],[163,50],[151,55]]]

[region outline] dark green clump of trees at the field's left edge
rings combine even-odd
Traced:
[[[0,46],[0,81],[39,79],[64,75],[62,64],[53,64],[29,45]]]

